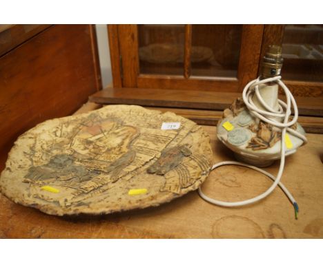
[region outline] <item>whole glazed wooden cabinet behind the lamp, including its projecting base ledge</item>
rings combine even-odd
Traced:
[[[92,102],[168,107],[215,125],[257,78],[266,47],[282,45],[284,83],[300,115],[315,116],[305,128],[323,126],[322,25],[108,25],[108,34],[113,83]]]

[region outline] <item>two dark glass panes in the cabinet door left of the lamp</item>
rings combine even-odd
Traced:
[[[237,78],[242,25],[192,25],[190,74]],[[138,25],[139,72],[184,74],[185,25]]]

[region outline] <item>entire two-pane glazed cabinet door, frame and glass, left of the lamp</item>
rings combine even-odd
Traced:
[[[111,25],[111,61],[121,68],[114,83],[240,92],[257,77],[263,32],[264,25]]]

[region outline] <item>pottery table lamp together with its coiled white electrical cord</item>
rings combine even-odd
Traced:
[[[266,198],[275,187],[280,188],[291,200],[297,218],[298,206],[280,178],[284,171],[285,156],[294,154],[298,147],[306,143],[305,131],[297,123],[298,110],[293,95],[281,81],[282,48],[269,46],[264,58],[260,77],[244,87],[242,98],[224,109],[222,119],[217,124],[217,138],[235,153],[240,162],[219,162],[211,169],[222,165],[240,165],[264,173],[274,182],[264,193],[255,198],[239,202],[224,202],[208,198],[199,188],[202,198],[223,207],[239,207]],[[286,96],[286,103],[278,98],[278,89]],[[293,116],[291,109],[293,108]],[[277,176],[258,167],[267,167],[280,159]]]

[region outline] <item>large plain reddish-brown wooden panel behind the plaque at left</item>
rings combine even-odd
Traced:
[[[101,89],[92,25],[54,25],[0,58],[0,149]],[[0,167],[1,169],[2,167]]]

